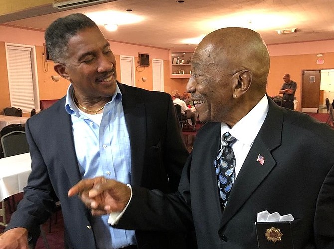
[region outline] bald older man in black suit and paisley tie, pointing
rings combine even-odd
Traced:
[[[194,225],[200,249],[333,249],[334,131],[266,96],[269,54],[261,36],[216,30],[199,43],[191,65],[187,89],[206,124],[178,191],[95,178],[69,195],[79,193],[95,215],[123,211],[109,221],[120,228]],[[257,222],[263,211],[289,221]]]

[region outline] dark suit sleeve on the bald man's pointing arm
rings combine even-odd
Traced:
[[[144,231],[194,230],[190,204],[190,165],[191,155],[176,193],[164,194],[159,190],[132,187],[133,196],[129,206],[114,227]]]

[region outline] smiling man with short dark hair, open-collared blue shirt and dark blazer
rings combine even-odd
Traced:
[[[104,176],[133,186],[177,190],[189,155],[167,93],[123,85],[115,56],[83,14],[56,20],[45,34],[55,71],[71,82],[67,95],[26,123],[32,172],[0,248],[26,248],[28,233],[61,202],[66,248],[183,249],[185,233],[115,229],[92,217],[67,192],[83,178]]]

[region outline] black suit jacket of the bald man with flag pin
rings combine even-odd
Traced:
[[[200,249],[257,249],[257,213],[268,210],[294,217],[282,242],[289,243],[291,236],[294,249],[333,249],[334,131],[309,115],[268,101],[266,119],[224,211],[213,164],[221,124],[206,123],[196,135],[178,192],[162,195],[134,187],[117,226],[186,231],[194,224]],[[257,161],[259,154],[263,165]],[[267,240],[265,232],[258,236]],[[270,241],[265,249],[279,248],[282,242]]]

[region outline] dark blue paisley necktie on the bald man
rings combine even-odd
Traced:
[[[216,168],[220,199],[225,208],[235,179],[235,156],[231,145],[236,138],[229,132],[226,132],[223,136],[223,144],[217,158],[214,160],[214,166]]]

